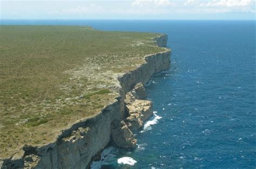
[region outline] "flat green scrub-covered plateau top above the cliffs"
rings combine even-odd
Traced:
[[[118,95],[117,75],[164,51],[154,33],[0,26],[0,158],[52,142]]]

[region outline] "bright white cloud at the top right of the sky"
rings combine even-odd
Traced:
[[[215,7],[239,7],[239,6],[249,6],[251,5],[251,0],[214,0],[211,2],[208,2],[206,4],[201,4],[204,6],[215,6]]]

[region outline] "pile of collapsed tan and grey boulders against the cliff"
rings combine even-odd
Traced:
[[[126,94],[125,105],[128,117],[125,121],[112,122],[112,138],[117,146],[126,149],[136,147],[136,139],[132,131],[142,128],[144,121],[153,114],[152,102],[142,100],[146,97],[146,90],[142,83],[135,85],[134,89]]]

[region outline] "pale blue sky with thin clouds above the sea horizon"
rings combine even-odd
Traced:
[[[255,20],[256,0],[6,1],[1,19]]]

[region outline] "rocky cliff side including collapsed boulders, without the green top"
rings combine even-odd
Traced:
[[[167,36],[154,39],[166,47]],[[146,62],[134,71],[118,77],[119,97],[95,117],[82,119],[63,130],[57,140],[42,147],[24,146],[20,153],[0,161],[0,168],[84,168],[110,140],[120,147],[135,148],[132,131],[143,126],[152,115],[152,102],[146,98],[143,84],[154,73],[170,68],[171,50],[146,56]]]

